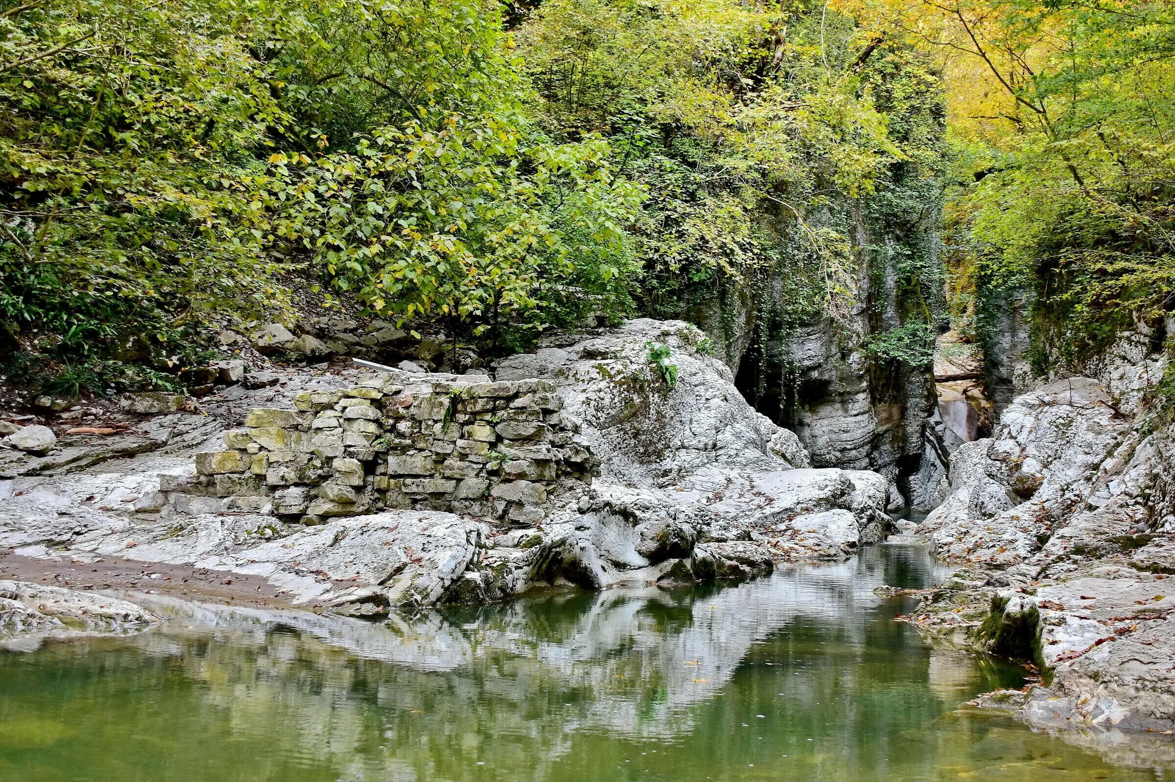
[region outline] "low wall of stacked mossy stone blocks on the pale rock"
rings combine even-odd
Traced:
[[[452,377],[452,376],[450,376]],[[599,460],[559,411],[550,380],[503,383],[378,373],[306,392],[296,410],[254,409],[160,490],[183,513],[273,513],[317,524],[384,508],[533,524],[579,492]]]

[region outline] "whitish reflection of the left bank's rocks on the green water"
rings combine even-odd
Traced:
[[[888,547],[893,550],[894,547]],[[477,713],[485,703],[522,703],[540,693],[575,693],[568,729],[625,736],[673,736],[691,730],[690,707],[726,686],[757,643],[788,627],[833,631],[837,643],[860,647],[880,599],[873,589],[898,577],[931,580],[921,550],[871,548],[838,565],[797,567],[770,579],[716,591],[613,589],[521,600],[450,613],[394,615],[385,625],[300,612],[195,606],[145,600],[174,618],[142,643],[155,653],[184,655],[188,626],[215,628],[227,655],[250,649],[254,665],[281,668],[307,659],[348,655],[394,663],[381,670],[381,703],[416,708],[438,686],[446,703],[423,717],[441,723],[454,712]],[[207,649],[209,656],[216,654]],[[964,658],[955,676],[974,679]],[[911,661],[915,663],[915,661]],[[852,675],[852,670],[845,672]],[[425,685],[422,677],[441,679]],[[257,683],[260,686],[260,682]],[[952,697],[955,693],[945,693]],[[958,700],[958,697],[955,697]],[[441,707],[434,702],[434,709]],[[502,726],[519,706],[496,705]]]

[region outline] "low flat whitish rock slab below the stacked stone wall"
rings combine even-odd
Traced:
[[[435,511],[390,511],[298,527],[255,514],[141,524],[103,510],[106,503],[79,506],[45,491],[5,505],[0,545],[20,555],[118,557],[260,575],[295,605],[360,614],[441,601],[488,532],[483,524]]]

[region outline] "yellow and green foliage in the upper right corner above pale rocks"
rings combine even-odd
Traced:
[[[1038,369],[1101,352],[1175,295],[1175,11],[1130,1],[948,4],[993,89],[956,132],[960,294],[1032,291]],[[964,29],[960,26],[965,26]],[[993,74],[1000,74],[995,77]],[[979,302],[980,309],[983,302]]]

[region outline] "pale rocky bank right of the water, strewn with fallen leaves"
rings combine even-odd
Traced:
[[[1161,362],[1121,344],[1104,383],[1048,383],[1016,397],[992,438],[961,445],[949,494],[919,527],[947,560],[998,566],[979,577],[987,587],[964,585],[1002,606],[985,642],[1053,669],[1047,688],[988,700],[1099,749],[1121,730],[1175,728],[1175,427],[1152,431],[1141,404]],[[933,619],[935,604],[959,605],[924,604],[932,623],[958,621]],[[1020,648],[999,648],[1009,639]]]

